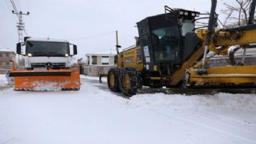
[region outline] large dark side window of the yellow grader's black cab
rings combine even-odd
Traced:
[[[178,56],[181,27],[174,14],[170,14],[169,19],[165,15],[149,19],[151,46],[156,61],[175,60]]]

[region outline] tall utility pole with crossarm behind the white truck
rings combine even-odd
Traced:
[[[25,31],[25,23],[23,23],[22,16],[23,15],[28,16],[30,14],[30,12],[23,13],[23,12],[12,11],[12,14],[16,14],[19,19],[19,22],[17,22],[17,28],[18,28],[19,42],[22,43],[23,42],[23,31]],[[23,57],[22,57],[22,60],[23,60]],[[18,66],[20,66],[20,65],[21,65],[21,63],[20,63],[20,59],[19,59]]]

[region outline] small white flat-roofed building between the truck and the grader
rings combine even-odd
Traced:
[[[113,66],[116,65],[115,54],[87,54],[89,66]]]

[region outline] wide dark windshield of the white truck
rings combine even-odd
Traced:
[[[69,55],[69,43],[27,41],[26,55],[28,53],[32,56],[65,57],[66,54]]]

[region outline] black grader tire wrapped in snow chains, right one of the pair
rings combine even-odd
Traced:
[[[128,76],[129,86],[124,85],[124,78]],[[142,86],[142,78],[140,76],[140,72],[133,67],[125,67],[120,71],[120,90],[125,96],[133,96],[136,95],[137,89]]]

